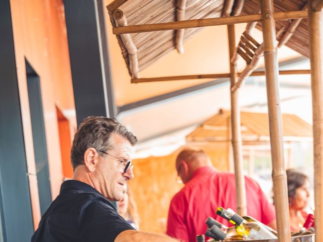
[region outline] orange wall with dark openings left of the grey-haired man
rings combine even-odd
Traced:
[[[18,86],[35,227],[40,219],[25,58],[40,77],[52,199],[63,181],[56,105],[76,127],[62,0],[11,0]],[[73,129],[74,130],[74,129]]]

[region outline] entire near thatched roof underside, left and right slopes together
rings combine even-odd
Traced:
[[[107,6],[107,9],[114,27],[124,25],[124,22],[121,25],[118,24],[113,17],[113,13],[117,9],[122,11],[124,21],[126,21],[125,25],[166,23],[177,20],[179,8],[176,4],[180,2],[181,0],[115,0]],[[236,0],[232,11],[235,10],[237,2]],[[256,0],[245,0],[241,15],[252,14],[258,6],[258,2]],[[274,0],[275,12],[301,10],[306,2],[306,0]],[[187,0],[186,8],[184,7],[185,20],[221,17],[226,3],[225,0]],[[276,21],[276,30],[285,27],[284,31],[286,31],[290,23],[290,21]],[[261,23],[258,23],[256,27],[261,30]],[[199,30],[201,28],[186,29],[183,42]],[[128,34],[126,40],[117,35],[130,76],[138,78],[140,71],[175,49],[176,34],[177,30],[133,33]],[[125,35],[123,36],[125,37]],[[304,56],[309,56],[307,19],[301,21],[286,45]],[[130,47],[131,50],[129,50],[129,46],[132,46]]]

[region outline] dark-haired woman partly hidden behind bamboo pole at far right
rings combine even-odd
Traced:
[[[306,220],[305,208],[309,201],[309,178],[295,169],[288,169],[287,185],[291,231],[299,231]]]

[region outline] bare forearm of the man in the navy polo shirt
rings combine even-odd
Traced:
[[[171,238],[163,234],[141,232],[136,230],[125,230],[116,237],[115,242],[179,242],[180,240]]]

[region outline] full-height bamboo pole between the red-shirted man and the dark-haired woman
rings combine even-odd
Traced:
[[[273,0],[259,1],[262,19],[264,43],[264,62],[267,89],[267,103],[273,162],[274,200],[278,228],[278,241],[290,242],[289,206],[287,193],[287,175],[284,163],[282,114],[278,83],[278,59],[273,18]]]

